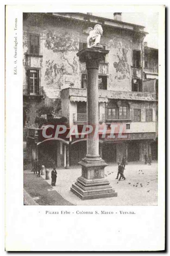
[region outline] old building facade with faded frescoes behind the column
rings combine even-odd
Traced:
[[[106,162],[157,158],[158,50],[145,42],[143,26],[84,13],[24,13],[23,116],[30,159],[47,167],[77,164],[86,154],[86,138],[42,138],[42,124],[67,129],[86,124],[87,74],[76,53],[87,47],[88,27],[101,24],[100,43],[109,50],[99,67],[100,154]],[[43,123],[44,122],[44,123]],[[123,139],[107,139],[111,124],[122,127]]]

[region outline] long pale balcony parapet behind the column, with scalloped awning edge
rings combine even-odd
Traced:
[[[87,90],[81,88],[66,88],[62,90],[62,98],[70,101],[87,101]],[[153,92],[127,92],[99,90],[99,102],[108,102],[108,99],[157,101]]]

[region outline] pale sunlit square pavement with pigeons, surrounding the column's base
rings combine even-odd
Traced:
[[[51,170],[50,170],[51,172]],[[157,205],[157,162],[152,165],[132,162],[126,165],[124,176],[126,180],[118,181],[117,164],[109,164],[105,168],[105,178],[117,197],[81,200],[70,191],[70,187],[81,176],[81,167],[57,169],[56,187],[53,187],[67,201],[76,205]],[[42,176],[45,179],[45,176]],[[50,176],[51,177],[51,176]],[[46,180],[51,184],[51,180]]]

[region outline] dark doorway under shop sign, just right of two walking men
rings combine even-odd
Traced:
[[[128,143],[128,162],[139,161],[139,143],[136,141]]]

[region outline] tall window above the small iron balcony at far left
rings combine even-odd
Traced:
[[[39,94],[39,69],[28,69],[28,90],[30,94]]]

